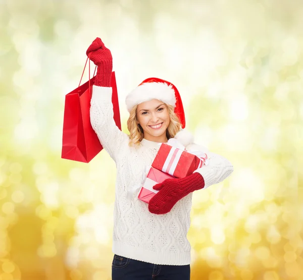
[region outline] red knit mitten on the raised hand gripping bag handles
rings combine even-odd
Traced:
[[[95,85],[110,87],[113,70],[111,51],[100,38],[96,38],[86,50],[86,55],[97,66]]]

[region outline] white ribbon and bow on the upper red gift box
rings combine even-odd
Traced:
[[[186,150],[185,146],[183,146],[177,139],[171,138],[167,142],[168,145],[172,146],[165,162],[162,167],[162,171],[165,173],[168,173],[170,175],[173,175],[177,164],[179,162],[179,159],[181,157],[181,154],[183,151],[186,151],[188,153],[191,153],[195,156],[197,156],[200,159],[200,163],[198,165],[198,169],[202,167],[203,165],[207,165],[209,162],[209,159],[207,157],[207,154],[198,150]]]

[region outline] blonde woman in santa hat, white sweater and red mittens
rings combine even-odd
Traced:
[[[96,38],[86,53],[97,65],[91,125],[117,166],[112,278],[187,280],[190,244],[186,235],[192,192],[223,181],[233,166],[226,158],[200,147],[209,157],[208,165],[183,179],[157,184],[154,189],[160,191],[149,204],[137,199],[138,192],[128,199],[129,191],[142,184],[144,170],[153,162],[159,143],[175,137],[187,149],[195,144],[180,131],[185,118],[178,90],[156,78],[143,81],[126,97],[130,135],[121,132],[113,119],[111,52]]]

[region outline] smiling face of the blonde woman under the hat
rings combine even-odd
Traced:
[[[158,99],[142,102],[137,106],[136,114],[146,140],[167,142],[166,129],[170,116],[165,103]]]

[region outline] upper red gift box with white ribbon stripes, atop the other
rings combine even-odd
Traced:
[[[205,156],[207,158],[206,154]],[[204,164],[205,158],[162,143],[151,166],[174,177],[184,178]]]

